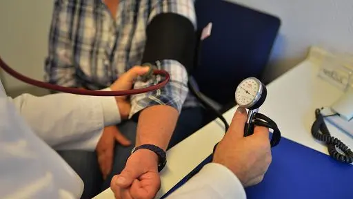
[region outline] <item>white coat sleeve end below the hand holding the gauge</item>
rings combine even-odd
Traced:
[[[243,185],[232,171],[221,164],[210,163],[167,198],[245,199],[246,194]]]

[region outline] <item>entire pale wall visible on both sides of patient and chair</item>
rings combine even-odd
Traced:
[[[228,0],[281,17],[269,79],[301,61],[309,46],[353,52],[352,0]],[[30,77],[43,79],[53,1],[0,1],[0,56]],[[20,40],[21,39],[21,40]],[[5,76],[8,89],[26,84]]]

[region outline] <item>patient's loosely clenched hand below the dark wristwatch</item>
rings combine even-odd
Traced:
[[[132,153],[125,169],[110,183],[116,199],[153,199],[160,187],[158,156],[148,149]]]

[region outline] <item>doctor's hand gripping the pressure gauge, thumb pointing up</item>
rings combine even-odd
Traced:
[[[263,180],[272,155],[267,128],[256,126],[253,135],[243,137],[246,120],[245,108],[238,108],[228,132],[216,146],[213,162],[223,164],[249,187]]]

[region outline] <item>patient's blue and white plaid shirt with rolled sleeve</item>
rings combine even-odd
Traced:
[[[193,0],[120,0],[115,19],[100,0],[56,0],[46,58],[46,80],[52,84],[92,90],[109,86],[119,75],[142,64],[145,29],[163,12],[188,17],[196,28]],[[163,29],[161,29],[163,31]],[[188,91],[188,75],[175,60],[160,60],[170,83],[158,91],[133,95],[130,116],[143,108],[164,104],[196,106]],[[154,82],[136,82],[141,88]]]

